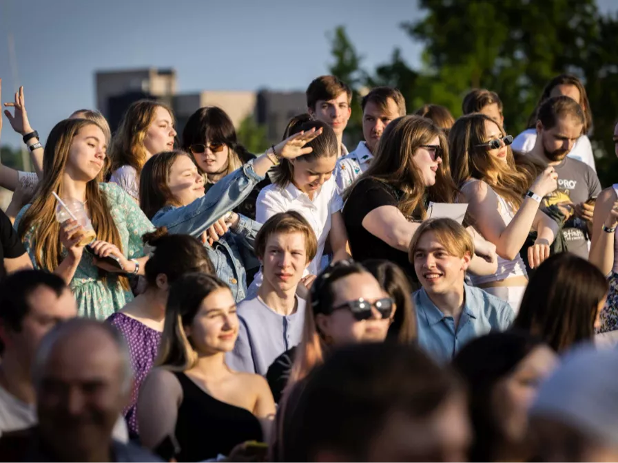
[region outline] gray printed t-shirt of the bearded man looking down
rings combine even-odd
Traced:
[[[544,199],[544,206],[579,204],[601,193],[599,177],[588,164],[572,158],[564,158],[554,167],[558,174],[558,189]],[[562,229],[562,235],[564,235],[569,252],[588,259],[587,233],[586,222],[578,217],[568,219]]]

